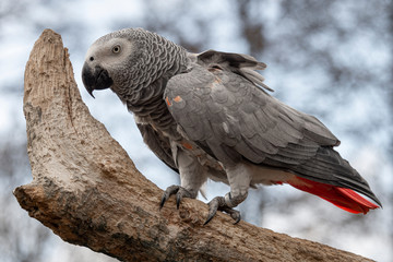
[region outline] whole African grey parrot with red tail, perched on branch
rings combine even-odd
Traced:
[[[317,118],[272,97],[253,57],[215,50],[188,52],[142,28],[97,39],[87,50],[82,80],[87,92],[110,88],[133,114],[147,146],[179,172],[181,184],[164,192],[196,198],[207,178],[230,186],[209,203],[228,213],[250,187],[289,183],[352,213],[381,206],[367,181],[334,151],[340,141]]]

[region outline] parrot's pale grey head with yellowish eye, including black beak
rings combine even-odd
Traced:
[[[146,52],[136,29],[121,29],[97,39],[87,50],[82,69],[82,81],[88,94],[95,90],[126,88],[132,71]],[[132,80],[131,80],[132,81]],[[94,97],[94,96],[93,96]]]

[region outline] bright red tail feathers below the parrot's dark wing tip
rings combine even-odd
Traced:
[[[379,207],[350,189],[315,182],[301,177],[295,177],[288,183],[294,188],[315,194],[350,213],[366,214],[369,210]]]

